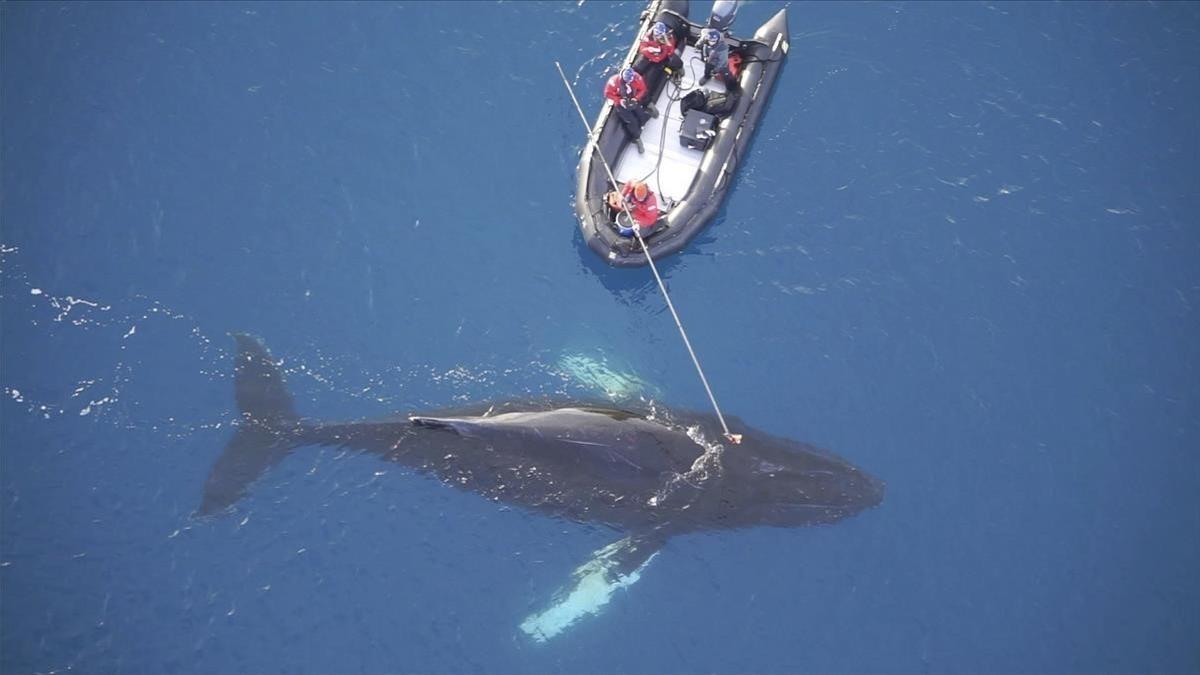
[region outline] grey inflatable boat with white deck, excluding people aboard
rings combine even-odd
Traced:
[[[614,222],[616,214],[606,201],[606,195],[614,186],[601,156],[607,160],[618,183],[646,183],[655,193],[660,209],[666,209],[658,225],[643,233],[650,256],[658,259],[683,249],[716,214],[767,107],[787,56],[787,10],[780,10],[758,26],[752,37],[739,38],[727,32],[732,16],[719,16],[718,5],[714,5],[713,14],[704,18],[704,24],[695,24],[688,19],[688,0],[650,2],[642,12],[634,46],[617,72],[634,66],[642,36],[654,23],[662,22],[674,32],[677,44],[682,47],[682,52],[677,49],[683,60],[682,77],[672,79],[661,68],[650,68],[644,74],[648,100],[655,103],[659,112],[656,118],[642,126],[644,153],[638,151],[607,98],[583,148],[575,213],[588,247],[608,264],[636,267],[647,261],[637,238],[629,235],[628,227],[622,228]],[[737,10],[733,2],[724,5],[732,5],[733,12]],[[737,54],[739,59],[737,82],[740,96],[725,117],[704,120],[695,112],[685,115],[680,103],[697,90],[725,92],[720,78],[714,77],[701,84],[704,64],[697,41],[709,26],[722,29],[731,54]],[[713,126],[697,131],[694,124],[697,117],[702,126]]]

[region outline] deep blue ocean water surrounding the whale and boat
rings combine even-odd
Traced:
[[[674,539],[540,646],[613,533],[316,448],[191,518],[229,331],[323,418],[595,394],[572,358],[707,407],[571,209],[553,61],[594,114],[640,8],[0,6],[0,670],[1200,670],[1195,4],[791,6],[661,268],[725,411],[880,508]]]

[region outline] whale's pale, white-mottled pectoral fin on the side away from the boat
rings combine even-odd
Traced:
[[[608,604],[618,589],[632,586],[664,544],[658,534],[631,534],[592,554],[571,573],[571,581],[554,592],[550,604],[521,622],[521,631],[545,643],[580,619]]]

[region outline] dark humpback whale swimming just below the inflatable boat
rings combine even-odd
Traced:
[[[391,419],[308,419],[296,414],[283,372],[262,342],[233,338],[240,418],[204,484],[198,515],[230,509],[294,449],[325,446],[622,533],[521,623],[536,641],[595,614],[616,590],[637,581],[673,536],[830,524],[883,498],[882,482],[826,450],[736,417],[726,422],[743,442],[725,448],[714,416],[654,405],[500,401]]]

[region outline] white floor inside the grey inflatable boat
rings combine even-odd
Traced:
[[[679,127],[683,125],[679,101],[697,89],[696,82],[704,74],[700,52],[695,47],[688,46],[684,49],[683,64],[682,88],[677,89],[673,83],[667,82],[654,102],[659,117],[642,126],[646,154],[640,155],[637,147],[630,144],[618,157],[613,169],[618,181],[644,180],[660,198],[666,196],[677,202],[688,193],[700,169],[700,162],[704,159],[704,153],[701,150],[692,150],[679,143]],[[713,78],[703,89],[725,91],[725,83]],[[725,129],[727,121],[721,120],[721,129]]]

